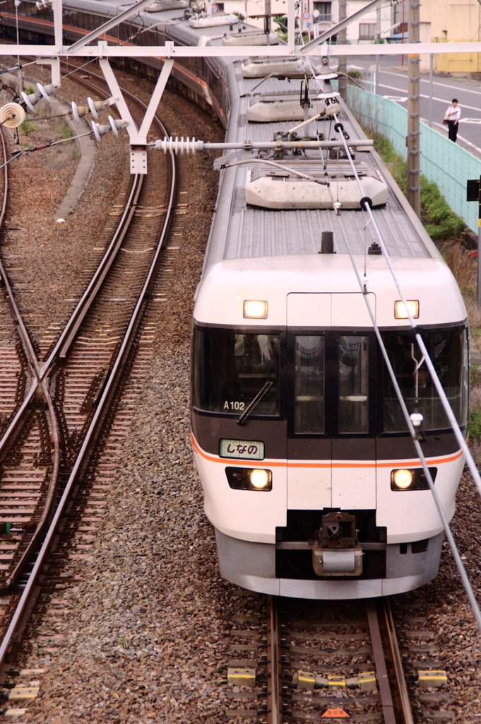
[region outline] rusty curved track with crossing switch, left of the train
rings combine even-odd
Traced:
[[[2,313],[5,341],[10,344],[9,363],[0,369],[6,380],[2,385],[0,376],[0,389],[6,390],[0,441],[1,681],[32,610],[32,597],[39,592],[38,576],[57,577],[54,588],[61,586],[59,580],[64,577],[56,573],[59,563],[83,555],[78,549],[68,550],[72,526],[80,528],[84,543],[77,545],[82,550],[101,525],[108,477],[116,467],[129,411],[116,417],[109,438],[109,445],[112,439],[116,445],[103,450],[103,457],[101,447],[95,445],[102,444],[108,424],[113,424],[112,403],[129,369],[140,368],[133,385],[137,391],[138,380],[148,369],[151,334],[142,329],[142,316],[159,264],[169,256],[165,246],[177,190],[174,159],[161,154],[153,159],[147,176],[135,177],[111,244],[46,359],[37,358],[26,330],[23,358],[13,355],[12,349],[18,351],[21,345],[8,325],[23,329],[25,322],[18,311],[13,322]],[[7,274],[4,285],[12,303]],[[17,382],[13,389],[12,370],[19,377],[27,364],[27,382]],[[72,490],[76,497],[69,500]],[[61,532],[57,533],[59,521]]]

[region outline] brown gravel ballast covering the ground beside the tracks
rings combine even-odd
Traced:
[[[170,94],[162,115],[171,135],[221,137],[210,119]],[[72,159],[59,164],[48,169],[41,152],[11,164],[9,224],[20,232],[9,232],[2,253],[18,260],[12,277],[24,306],[33,298],[44,305],[39,334],[63,321],[72,305],[66,299],[80,295],[82,270],[93,266],[95,248],[105,243],[119,183],[128,174],[124,146],[106,137],[81,206],[58,224],[54,214],[75,172]],[[86,557],[69,564],[69,571],[80,579],[64,593],[69,612],[57,623],[46,615],[37,627],[41,636],[59,633],[61,638],[56,645],[50,638],[35,639],[20,657],[20,665],[44,670],[38,677],[38,697],[21,719],[25,722],[224,723],[231,620],[261,600],[219,577],[213,529],[203,514],[192,463],[192,300],[217,176],[212,158],[206,156],[182,157],[181,173],[192,179],[188,223],[174,264],[169,304],[162,307],[158,320],[150,374],[119,460],[103,526]],[[35,190],[42,185],[42,198],[30,189],[28,201],[25,196],[22,200],[27,174]],[[27,286],[20,287],[20,282]],[[481,597],[479,512],[479,494],[466,477],[454,532]],[[456,722],[477,720],[479,632],[446,545],[438,578],[399,597],[399,615],[414,605],[430,618],[436,643],[446,652],[442,668],[456,687]]]

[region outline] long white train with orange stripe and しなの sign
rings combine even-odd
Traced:
[[[64,6],[72,28],[91,30],[122,4]],[[152,26],[142,44],[275,42],[236,18],[210,25],[192,8],[165,7],[133,21]],[[5,28],[13,2],[2,10]],[[115,36],[127,33],[135,42],[132,22]],[[451,519],[464,456],[391,269],[467,434],[467,313],[456,282],[339,108],[328,68],[184,63],[176,82],[216,111],[226,140],[252,142],[222,164],[192,337],[192,446],[221,574],[315,599],[414,589],[438,571],[443,529],[380,340],[406,407],[422,415],[422,450]]]

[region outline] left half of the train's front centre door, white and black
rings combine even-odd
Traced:
[[[331,508],[331,438],[325,431],[325,332],[331,294],[287,296],[287,508]],[[305,330],[305,331],[304,331]]]

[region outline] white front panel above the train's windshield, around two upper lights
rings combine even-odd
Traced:
[[[359,277],[363,257],[354,257]],[[409,300],[419,300],[419,324],[432,327],[466,321],[461,294],[446,264],[435,258],[393,258],[393,268]],[[395,319],[394,304],[399,291],[388,276],[383,256],[370,260],[367,299],[381,328],[406,327],[406,319]],[[442,293],[440,293],[442,290]],[[308,295],[308,296],[307,296]],[[198,324],[276,327],[371,328],[365,295],[345,255],[315,254],[226,259],[206,269],[197,289],[194,317]],[[222,299],[219,306],[218,299]],[[246,319],[244,300],[268,301],[268,319]]]

